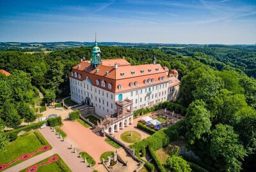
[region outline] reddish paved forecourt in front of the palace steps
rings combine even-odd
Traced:
[[[99,166],[100,155],[107,151],[115,151],[104,140],[106,137],[100,137],[92,133],[92,130],[79,124],[79,122],[64,121],[61,129],[67,134],[67,139],[71,139],[79,148],[87,152],[96,161],[95,167]]]

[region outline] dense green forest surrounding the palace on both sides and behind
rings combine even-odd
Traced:
[[[157,63],[179,71],[180,97],[188,107],[184,136],[202,161],[220,171],[253,171],[256,164],[256,55],[255,48],[124,48],[100,47],[103,59],[125,56],[135,64]],[[67,48],[49,54],[0,52],[0,118],[17,127],[30,122],[29,104],[36,88],[58,97],[68,96],[70,69],[92,47]],[[35,94],[35,95],[34,95]],[[24,108],[25,107],[25,108]],[[32,109],[33,110],[33,109]]]

